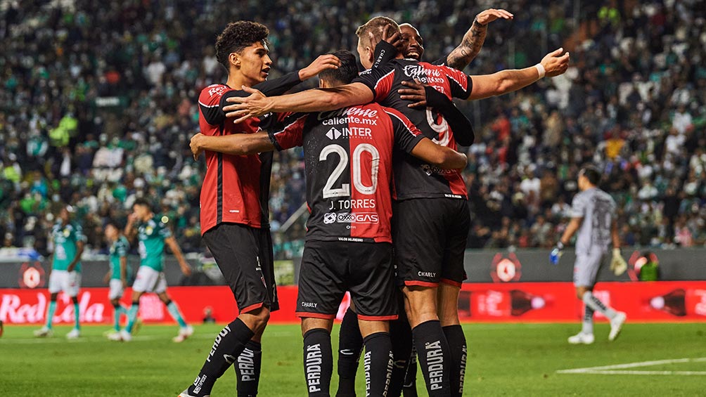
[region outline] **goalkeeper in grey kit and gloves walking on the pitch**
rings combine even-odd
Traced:
[[[620,238],[615,215],[616,202],[608,193],[597,188],[600,178],[601,173],[593,166],[586,166],[578,173],[580,193],[574,196],[571,203],[571,221],[549,258],[553,264],[556,264],[564,245],[568,245],[574,233],[578,231],[573,281],[576,295],[585,305],[585,314],[581,331],[568,338],[568,342],[573,345],[593,343],[594,312],[600,312],[610,319],[609,341],[614,341],[618,337],[626,320],[624,312],[614,310],[593,295],[596,276],[611,240],[613,243],[611,270],[619,276],[627,269],[627,264],[620,253]]]

